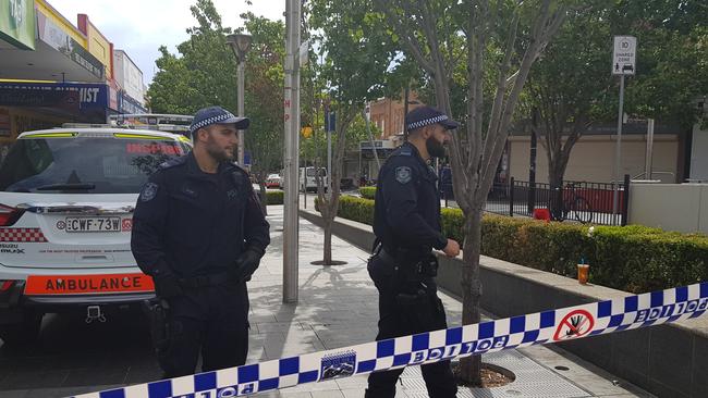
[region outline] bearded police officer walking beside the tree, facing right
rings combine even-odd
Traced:
[[[442,158],[450,129],[457,123],[442,112],[420,107],[405,116],[408,140],[379,172],[374,212],[377,245],[368,271],[379,290],[377,340],[447,328],[434,277],[437,258],[460,254],[460,245],[440,228],[440,196],[430,158]],[[457,387],[450,361],[422,366],[431,398],[454,397]],[[367,398],[393,398],[403,369],[371,373]]]

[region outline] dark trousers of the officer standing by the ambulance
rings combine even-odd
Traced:
[[[169,339],[158,348],[166,378],[239,366],[248,355],[246,283],[187,288],[169,300]]]

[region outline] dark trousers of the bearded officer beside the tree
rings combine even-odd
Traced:
[[[369,260],[369,275],[379,290],[379,333],[376,339],[447,328],[444,308],[432,278],[405,281],[394,266],[378,256]],[[419,291],[423,287],[425,295]],[[449,360],[423,364],[420,370],[430,398],[455,397],[457,385]],[[401,373],[403,369],[371,373],[365,397],[394,398],[395,383]]]

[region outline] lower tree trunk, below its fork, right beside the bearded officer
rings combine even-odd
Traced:
[[[481,248],[481,209],[473,209],[465,217],[465,241],[462,257],[462,324],[479,323],[479,254]],[[474,386],[481,386],[481,356],[460,360],[460,377]]]

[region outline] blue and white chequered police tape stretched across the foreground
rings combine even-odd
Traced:
[[[708,283],[306,353],[76,398],[225,398],[703,315]]]

